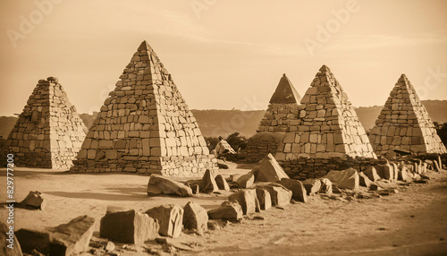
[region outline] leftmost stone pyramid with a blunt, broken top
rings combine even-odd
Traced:
[[[38,81],[4,149],[17,166],[68,169],[86,132],[62,85],[48,77]]]

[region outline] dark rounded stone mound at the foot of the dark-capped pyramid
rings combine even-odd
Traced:
[[[257,132],[247,142],[246,161],[254,163],[269,153],[274,155],[283,143],[284,137],[284,132]]]

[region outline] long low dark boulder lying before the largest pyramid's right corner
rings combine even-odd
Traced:
[[[156,174],[150,175],[148,182],[148,196],[160,194],[186,197],[192,196],[192,190],[187,185],[173,181],[168,177]]]

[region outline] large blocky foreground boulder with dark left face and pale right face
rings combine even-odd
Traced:
[[[148,239],[155,239],[158,228],[156,220],[145,213],[108,207],[101,218],[99,235],[114,242],[142,244]]]

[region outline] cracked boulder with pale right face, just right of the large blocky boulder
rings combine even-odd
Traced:
[[[162,205],[148,209],[146,214],[158,221],[160,225],[158,234],[173,238],[181,234],[183,209],[180,206],[174,204]]]

